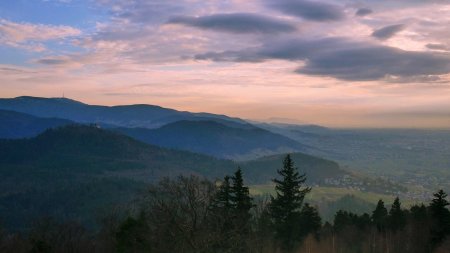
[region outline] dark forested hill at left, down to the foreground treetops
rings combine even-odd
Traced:
[[[88,126],[0,140],[0,220],[23,228],[37,217],[92,224],[102,210],[128,203],[163,176],[223,177],[227,160],[159,148]]]

